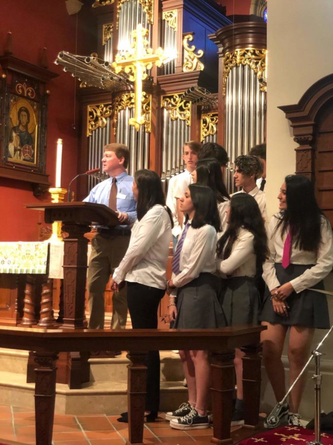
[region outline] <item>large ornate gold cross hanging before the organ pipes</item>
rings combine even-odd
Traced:
[[[141,24],[131,34],[134,38],[132,48],[124,55],[118,53],[112,67],[117,74],[123,69],[129,75],[129,80],[134,82],[135,117],[131,118],[128,123],[133,125],[136,131],[139,131],[140,126],[146,123],[146,119],[142,115],[142,82],[148,77],[146,70],[150,70],[153,63],[158,67],[161,66],[167,59],[170,60],[170,57],[164,54],[162,48],[157,48],[153,52],[152,48],[148,47],[149,42],[145,39],[148,30]]]

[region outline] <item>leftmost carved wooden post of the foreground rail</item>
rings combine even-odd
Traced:
[[[56,389],[56,353],[35,353],[38,367],[35,385],[36,444],[51,445]]]

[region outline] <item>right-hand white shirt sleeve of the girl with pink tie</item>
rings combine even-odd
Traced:
[[[298,294],[325,278],[331,272],[332,266],[332,229],[325,219],[321,224],[321,242],[318,249],[316,265],[305,270],[304,273],[291,280],[290,283]]]

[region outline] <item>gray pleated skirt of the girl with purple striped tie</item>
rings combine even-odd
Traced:
[[[211,273],[200,273],[198,278],[178,289],[177,317],[173,328],[214,329],[226,326],[218,301],[220,280]]]

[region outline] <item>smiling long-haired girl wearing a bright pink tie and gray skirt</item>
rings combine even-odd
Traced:
[[[286,393],[285,371],[281,360],[288,329],[289,384],[292,385],[306,363],[315,328],[330,327],[326,295],[310,288],[323,289],[323,278],[332,270],[332,230],[316,202],[312,183],[300,175],[285,178],[278,195],[280,213],[268,227],[270,255],[263,265],[266,282],[260,315],[263,360],[277,401]],[[280,420],[300,426],[298,407],[306,373],[281,407]],[[274,428],[264,423],[265,428]]]

